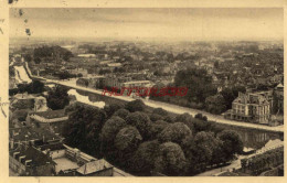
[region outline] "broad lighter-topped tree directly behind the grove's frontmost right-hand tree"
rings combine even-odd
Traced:
[[[192,132],[188,126],[182,122],[169,123],[158,136],[160,142],[176,142],[181,144],[183,139],[191,136]]]

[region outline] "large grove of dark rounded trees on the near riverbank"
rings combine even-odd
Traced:
[[[141,100],[104,109],[75,104],[66,112],[66,143],[138,175],[192,175],[233,160],[243,149],[236,132],[202,115],[172,117],[161,108],[148,110]]]

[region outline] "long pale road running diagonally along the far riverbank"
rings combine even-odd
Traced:
[[[54,79],[45,79],[43,77],[35,77],[35,78],[44,79],[49,83],[60,84],[60,85],[63,85],[63,86],[75,88],[75,89],[89,92],[89,93],[93,93],[93,94],[98,94],[98,95],[103,94],[102,90],[97,90],[97,89],[94,89],[94,88],[86,88],[86,87],[83,87],[83,86],[77,86],[76,83],[75,83],[75,79],[54,80]],[[106,94],[106,96],[117,98],[117,99],[121,99],[121,100],[125,100],[125,101],[135,100],[134,98],[128,97],[128,96],[109,96],[108,94]],[[253,128],[253,129],[258,129],[258,130],[267,130],[267,131],[274,131],[274,132],[283,132],[284,131],[284,126],[269,127],[269,126],[249,123],[249,122],[244,122],[244,121],[235,121],[235,120],[225,119],[223,116],[212,115],[212,114],[209,114],[206,111],[191,109],[191,108],[187,108],[187,107],[180,107],[180,106],[172,105],[172,104],[155,101],[155,100],[147,100],[147,99],[142,99],[142,101],[147,106],[150,106],[152,108],[162,108],[167,111],[178,114],[178,115],[181,115],[181,114],[184,114],[184,112],[188,112],[192,116],[194,116],[196,114],[202,114],[202,115],[206,116],[209,120],[213,120],[213,121],[219,122],[219,123],[232,125],[232,126],[245,127],[245,128]]]

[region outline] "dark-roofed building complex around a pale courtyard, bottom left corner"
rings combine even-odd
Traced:
[[[113,176],[114,166],[62,142],[9,143],[9,166],[19,175]]]

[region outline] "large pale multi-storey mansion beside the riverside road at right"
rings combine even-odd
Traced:
[[[225,118],[234,120],[269,125],[270,104],[268,99],[261,94],[240,93],[238,97],[232,103],[232,109],[224,116]]]

